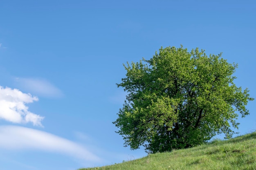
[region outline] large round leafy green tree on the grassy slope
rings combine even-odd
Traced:
[[[113,122],[131,149],[165,152],[204,144],[238,128],[238,113],[249,110],[249,90],[237,87],[232,76],[237,64],[198,48],[166,47],[150,60],[124,65],[127,73],[117,84],[128,92]],[[238,112],[238,113],[237,113]]]

